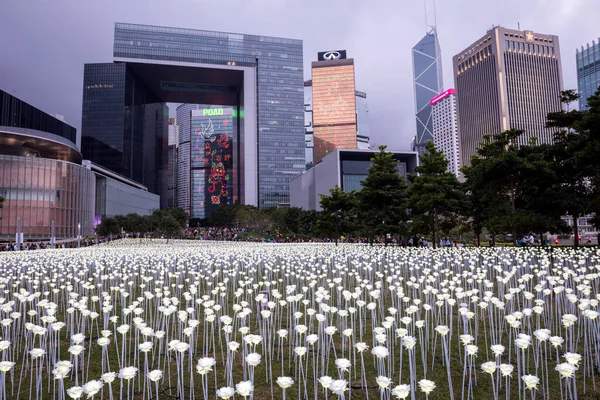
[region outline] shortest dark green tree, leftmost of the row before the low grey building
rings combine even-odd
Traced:
[[[321,195],[323,211],[317,221],[317,231],[325,237],[335,240],[354,230],[356,196],[346,193],[338,185],[329,189],[329,195]]]

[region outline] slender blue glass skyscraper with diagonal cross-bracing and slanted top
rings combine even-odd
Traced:
[[[432,28],[412,48],[412,62],[417,122],[413,151],[420,154],[425,151],[427,142],[433,140],[433,121],[431,120],[429,100],[443,90],[442,50],[435,28]]]

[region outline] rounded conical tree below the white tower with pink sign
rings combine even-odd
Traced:
[[[421,165],[415,168],[419,175],[409,176],[408,207],[414,231],[431,234],[433,246],[437,247],[438,233],[449,232],[459,224],[467,200],[456,175],[447,171],[444,153],[433,142],[425,148],[419,157]]]

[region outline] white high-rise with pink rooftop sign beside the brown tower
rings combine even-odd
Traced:
[[[448,172],[460,178],[460,136],[454,89],[448,89],[429,102],[433,119],[433,144],[448,160]]]

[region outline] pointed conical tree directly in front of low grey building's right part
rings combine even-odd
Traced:
[[[357,216],[361,231],[373,242],[375,236],[404,231],[408,218],[406,183],[398,173],[398,161],[392,153],[379,146],[371,159],[369,174],[358,192]]]

